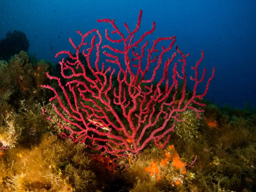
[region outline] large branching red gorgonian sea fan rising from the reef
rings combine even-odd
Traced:
[[[50,101],[58,100],[57,105],[53,104],[53,107],[56,113],[70,124],[67,126],[59,123],[65,130],[61,134],[62,137],[71,137],[74,142],[85,143],[87,147],[99,150],[101,155],[138,154],[151,140],[154,140],[158,147],[163,148],[170,138],[170,132],[175,128],[175,121],[182,121],[178,118],[180,113],[193,110],[199,118],[199,113],[203,110],[196,106],[205,106],[200,100],[206,95],[210,81],[214,77],[213,67],[212,76],[207,81],[204,93],[196,95],[198,84],[204,80],[206,73],[204,69],[202,77],[198,78],[198,65],[204,58],[202,51],[201,59],[191,67],[195,71],[195,76],[190,76],[194,81],[194,87],[192,96],[186,98],[185,68],[186,57],[189,54],[184,55],[177,46],[176,51],[170,54],[175,44],[175,36],[157,38],[153,41],[152,47],[147,48],[149,46],[145,38],[154,32],[154,22],[152,29],[135,41],[135,34],[140,29],[141,17],[142,10],[133,31],[130,31],[127,23],[124,24],[128,32],[127,37],[119,31],[114,20],[97,20],[112,25],[111,33],[119,35],[120,38],[116,40],[111,38],[108,29],[105,30],[105,37],[111,45],[122,44],[123,49],[116,49],[110,45],[102,46],[102,35],[97,29],[85,34],[77,31],[81,35],[81,43],[76,46],[72,39],[69,39],[76,49],[76,54],[61,51],[56,55],[56,57],[62,54],[69,56],[68,60],[63,58],[59,62],[61,76],[67,83],[64,84],[60,78],[47,73],[49,79],[58,82],[64,96],[60,96],[60,93],[49,85],[41,86],[55,93]],[[88,39],[90,44],[87,44]],[[156,47],[161,42],[168,42],[169,46],[162,46],[158,50]],[[82,47],[86,48],[82,50]],[[87,61],[86,64],[82,64],[79,59],[81,50]],[[164,60],[163,55],[168,53],[170,57]],[[105,69],[105,64],[99,62],[102,54],[106,58],[105,62],[116,65],[117,71],[111,66]],[[177,55],[181,58],[171,65]],[[177,70],[178,63],[181,65],[181,72]],[[163,66],[160,68],[161,65]],[[150,71],[150,67],[153,67],[152,75],[147,79],[146,74]],[[153,82],[159,72],[162,73],[160,80]],[[169,76],[169,73],[172,76]],[[182,86],[178,92],[179,83]]]

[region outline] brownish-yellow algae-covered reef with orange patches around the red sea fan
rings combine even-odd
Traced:
[[[59,123],[68,123],[49,105],[53,93],[40,87],[55,87],[46,72],[59,69],[24,51],[5,60],[0,61],[0,191],[255,191],[255,109],[218,108],[204,100],[200,119],[194,111],[180,115],[183,122],[176,122],[165,148],[152,142],[139,155],[99,156],[59,137]]]

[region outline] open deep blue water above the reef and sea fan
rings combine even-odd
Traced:
[[[147,37],[150,42],[176,35],[179,48],[190,53],[188,66],[195,65],[204,50],[200,72],[206,67],[207,79],[216,68],[206,99],[219,106],[256,106],[255,0],[1,0],[0,38],[8,31],[23,31],[29,53],[57,63],[57,52],[73,52],[70,37],[80,43],[76,30],[97,28],[104,35],[111,25],[96,20],[109,18],[127,35],[123,23],[134,29],[140,9],[141,32],[156,22],[154,34]],[[189,67],[187,73],[193,74]]]

